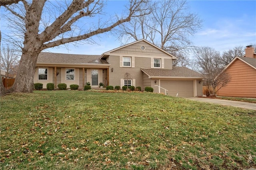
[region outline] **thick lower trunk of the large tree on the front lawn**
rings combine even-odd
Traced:
[[[34,74],[38,55],[38,52],[32,50],[22,53],[18,73],[14,85],[10,89],[11,92],[33,93]]]

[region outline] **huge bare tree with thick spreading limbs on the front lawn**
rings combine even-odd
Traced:
[[[85,40],[91,43],[92,36],[108,32],[116,26],[142,15],[144,0],[130,0],[125,17],[110,18],[95,25],[94,16],[100,16],[104,2],[100,0],[47,1],[22,0],[22,3],[4,6],[10,13],[7,18],[12,32],[12,43],[22,50],[16,80],[12,92],[33,92],[36,61],[39,53],[47,48]],[[59,10],[59,11],[58,11]],[[14,16],[16,17],[15,19]],[[47,19],[47,17],[49,17]],[[84,19],[84,20],[83,20]],[[86,24],[88,21],[90,24]],[[79,22],[85,23],[79,27]],[[20,34],[18,34],[20,33]],[[17,38],[23,40],[17,41]],[[10,37],[9,37],[10,38]],[[23,42],[23,43],[21,43]]]

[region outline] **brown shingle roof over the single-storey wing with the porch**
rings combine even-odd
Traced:
[[[38,55],[37,63],[109,64],[106,60],[100,59],[100,55],[78,55],[47,52],[41,52]]]

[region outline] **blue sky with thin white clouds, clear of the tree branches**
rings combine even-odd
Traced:
[[[106,7],[106,16],[113,11],[121,14],[127,1],[110,0]],[[256,43],[256,1],[251,0],[190,0],[190,11],[197,13],[204,22],[202,29],[191,38],[196,46],[209,46],[222,52],[235,46]],[[2,24],[1,24],[2,25]],[[1,31],[4,32],[4,30]],[[2,35],[3,36],[3,35]],[[94,36],[97,44],[83,44],[68,49],[61,46],[46,51],[55,53],[95,54],[119,47],[121,43],[116,36],[109,33]]]

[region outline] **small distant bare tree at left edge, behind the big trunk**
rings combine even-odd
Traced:
[[[6,70],[6,73],[10,77],[15,77],[17,73],[17,67],[19,63],[19,55],[17,51],[7,45],[1,49],[1,68]]]

